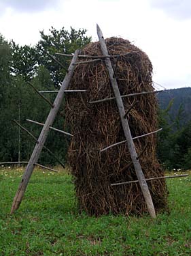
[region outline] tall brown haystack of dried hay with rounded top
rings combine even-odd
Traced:
[[[143,51],[122,38],[106,41],[109,55],[116,67],[120,94],[153,91],[152,63]],[[128,55],[123,55],[129,53]],[[82,55],[102,55],[99,42],[88,44]],[[86,61],[89,59],[81,59]],[[104,61],[80,64],[75,69],[70,89],[86,89],[81,94],[69,94],[66,100],[66,120],[74,135],[69,147],[69,165],[75,178],[76,197],[80,210],[90,215],[143,214],[147,212],[145,199],[138,183],[111,186],[116,182],[137,180],[126,143],[101,149],[124,141],[124,132],[115,100],[91,104],[90,101],[114,97]],[[127,110],[137,101],[128,114],[133,137],[157,129],[156,96],[146,94],[123,98]],[[135,139],[137,154],[145,177],[163,175],[156,159],[156,135]],[[167,186],[164,180],[148,182],[156,211],[167,205]]]

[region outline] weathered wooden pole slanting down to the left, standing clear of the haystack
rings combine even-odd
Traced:
[[[39,135],[39,139],[37,144],[35,145],[35,149],[33,150],[33,154],[31,155],[31,158],[29,160],[29,164],[27,165],[27,168],[22,176],[22,180],[20,182],[20,185],[18,186],[18,190],[16,192],[16,195],[14,197],[14,201],[12,203],[12,209],[11,214],[14,213],[15,210],[19,208],[19,205],[22,201],[22,197],[24,195],[25,190],[27,189],[27,185],[29,183],[30,177],[33,173],[34,164],[39,159],[39,155],[41,154],[41,150],[44,146],[44,143],[46,141],[46,138],[48,137],[48,130],[49,126],[52,126],[54,119],[56,117],[56,114],[58,113],[58,109],[60,107],[60,104],[63,101],[63,96],[65,89],[69,86],[69,82],[71,81],[71,76],[73,75],[73,71],[75,69],[75,66],[73,66],[73,63],[77,61],[77,55],[79,54],[79,50],[75,51],[75,54],[73,55],[73,59],[71,60],[69,70],[65,76],[65,79],[63,80],[63,83],[60,87],[60,90],[58,91],[58,94],[56,96],[56,99],[54,100],[54,108],[50,110],[50,113],[46,119],[46,122],[41,130],[41,133]]]

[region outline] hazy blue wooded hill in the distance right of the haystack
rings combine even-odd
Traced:
[[[179,107],[182,105],[181,125],[184,126],[191,120],[191,87],[162,91],[157,98],[161,109],[167,109],[169,102],[174,99],[173,106],[169,111],[172,119],[175,119]]]

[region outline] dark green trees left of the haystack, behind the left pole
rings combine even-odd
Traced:
[[[91,40],[86,36],[86,30],[70,31],[64,28],[56,30],[53,27],[46,35],[40,32],[41,40],[35,46],[20,46],[15,42],[7,42],[0,35],[0,160],[4,161],[27,161],[29,160],[35,141],[20,129],[13,120],[18,121],[27,128],[35,137],[39,136],[41,127],[31,124],[26,119],[32,119],[44,123],[50,111],[49,104],[39,98],[29,83],[38,90],[58,89],[65,77],[65,70],[69,66],[69,60],[56,57],[63,63],[52,62],[47,55],[54,53],[71,54],[77,48],[82,48]],[[28,83],[29,82],[29,83]],[[46,94],[51,102],[54,102],[56,94]],[[56,117],[54,127],[63,130],[65,123],[63,106]],[[66,130],[67,128],[65,128]],[[67,130],[66,130],[67,131]],[[66,161],[67,146],[69,138],[56,131],[50,131],[46,147],[62,161]],[[39,163],[45,165],[56,165],[57,162],[48,152],[43,150]]]

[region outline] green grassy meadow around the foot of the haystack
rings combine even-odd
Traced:
[[[167,180],[170,214],[90,217],[71,176],[37,170],[10,215],[21,169],[0,169],[0,255],[191,255],[191,176]]]

